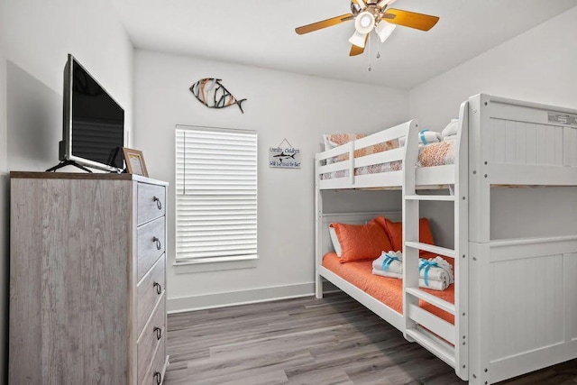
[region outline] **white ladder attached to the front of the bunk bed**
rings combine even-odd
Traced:
[[[405,337],[435,353],[444,362],[453,366],[463,380],[469,376],[468,335],[468,102],[460,108],[459,143],[455,151],[454,188],[451,195],[417,194],[418,131],[409,131],[403,183],[403,315]],[[421,201],[453,202],[454,249],[419,243],[419,204]],[[454,303],[437,298],[419,289],[419,251],[433,252],[453,258]],[[454,317],[451,324],[419,306],[424,301]]]

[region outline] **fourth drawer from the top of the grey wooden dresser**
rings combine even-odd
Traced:
[[[144,374],[151,365],[152,357],[157,351],[159,345],[164,350],[166,341],[166,308],[164,297],[160,300],[159,306],[156,307],[154,313],[148,323],[144,326],[142,335],[137,343],[137,371],[138,383],[144,380]]]

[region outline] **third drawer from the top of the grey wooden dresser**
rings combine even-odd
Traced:
[[[165,269],[166,269],[166,253],[162,254],[158,261],[152,266],[152,269],[146,273],[142,281],[136,288],[137,296],[137,325],[138,333],[141,335],[142,328],[146,325],[146,321],[151,316],[154,306],[159,301],[162,293],[164,293],[165,284]]]

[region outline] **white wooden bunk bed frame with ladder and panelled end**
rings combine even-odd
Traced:
[[[563,236],[490,236],[491,187],[570,186],[577,191],[577,111],[472,96],[460,107],[454,164],[444,166],[414,167],[418,131],[417,121],[410,121],[316,154],[316,297],[323,296],[323,278],[329,280],[472,384],[577,358],[577,226]],[[407,139],[398,149],[353,156],[356,149],[401,137]],[[343,154],[348,160],[326,164]],[[357,168],[390,161],[401,161],[402,170],[355,175]],[[346,170],[346,176],[324,179],[337,170]],[[449,185],[453,194],[422,193],[440,185]],[[331,248],[328,224],[372,217],[324,213],[323,190],[347,188],[402,190],[402,315],[322,265]],[[417,193],[417,188],[424,189]],[[418,243],[423,200],[453,202],[452,250]],[[574,210],[577,201],[544,204]],[[418,289],[418,250],[454,259],[453,304]],[[544,264],[546,280],[527,279],[519,272],[535,263]],[[454,324],[419,307],[419,298],[452,314]]]

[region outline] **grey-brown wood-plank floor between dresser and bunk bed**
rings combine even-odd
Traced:
[[[169,315],[166,385],[466,384],[343,293]],[[577,360],[508,385],[577,384]]]

